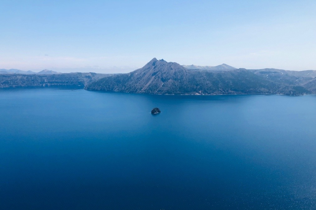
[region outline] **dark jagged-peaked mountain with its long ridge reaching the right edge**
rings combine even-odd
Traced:
[[[152,59],[131,73],[102,78],[87,90],[149,94],[285,94],[316,93],[315,71],[279,69],[187,69],[178,63]]]

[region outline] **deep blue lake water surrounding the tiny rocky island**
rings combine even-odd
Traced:
[[[0,209],[315,209],[315,134],[315,95],[1,89]]]

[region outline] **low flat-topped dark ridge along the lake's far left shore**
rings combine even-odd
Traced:
[[[63,73],[63,74],[0,74],[0,87],[86,86],[113,74]]]

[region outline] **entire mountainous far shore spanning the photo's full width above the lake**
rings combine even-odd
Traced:
[[[189,69],[190,68],[190,69]],[[0,87],[78,86],[86,90],[148,94],[316,94],[316,71],[282,69],[236,69],[181,66],[156,58],[144,67],[124,74],[39,73],[0,69]],[[24,72],[24,71],[23,71]]]

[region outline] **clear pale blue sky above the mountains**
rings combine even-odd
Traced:
[[[0,68],[316,70],[316,1],[0,1]]]

